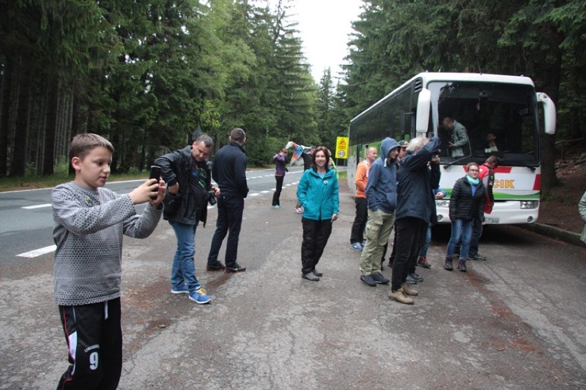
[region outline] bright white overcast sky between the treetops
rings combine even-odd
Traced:
[[[270,0],[272,9],[276,0]],[[290,0],[290,21],[297,21],[307,62],[319,83],[324,69],[332,68],[332,77],[341,72],[348,54],[351,22],[358,20],[362,0]],[[334,85],[336,81],[334,80]]]

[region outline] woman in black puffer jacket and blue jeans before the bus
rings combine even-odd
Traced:
[[[457,243],[462,237],[462,248],[458,260],[458,270],[466,272],[466,257],[470,248],[473,219],[479,219],[484,224],[484,185],[478,178],[478,164],[470,162],[466,166],[466,176],[458,179],[450,197],[450,220],[452,221],[452,236],[446,253],[446,270],[453,270],[452,256]]]

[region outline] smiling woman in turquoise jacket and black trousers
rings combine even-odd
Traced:
[[[312,168],[303,173],[297,186],[297,198],[303,206],[301,274],[310,281],[318,281],[323,276],[316,270],[316,265],[332,233],[332,222],[338,219],[338,180],[336,171],[328,168],[328,161],[329,150],[317,147]]]

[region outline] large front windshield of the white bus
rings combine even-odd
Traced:
[[[431,81],[427,87],[433,125],[442,140],[442,164],[467,164],[497,155],[501,165],[539,166],[539,122],[531,85]],[[454,131],[444,127],[446,117],[465,127],[468,142],[462,147],[448,148]]]

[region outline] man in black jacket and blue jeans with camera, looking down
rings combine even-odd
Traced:
[[[219,196],[219,188],[211,185],[210,162],[207,160],[212,147],[212,138],[204,134],[191,146],[155,160],[167,183],[163,218],[169,221],[177,237],[171,268],[171,293],[189,294],[189,299],[195,303],[211,301],[195,277],[193,258],[195,228],[199,221],[206,226],[208,203],[215,204],[215,197]]]

